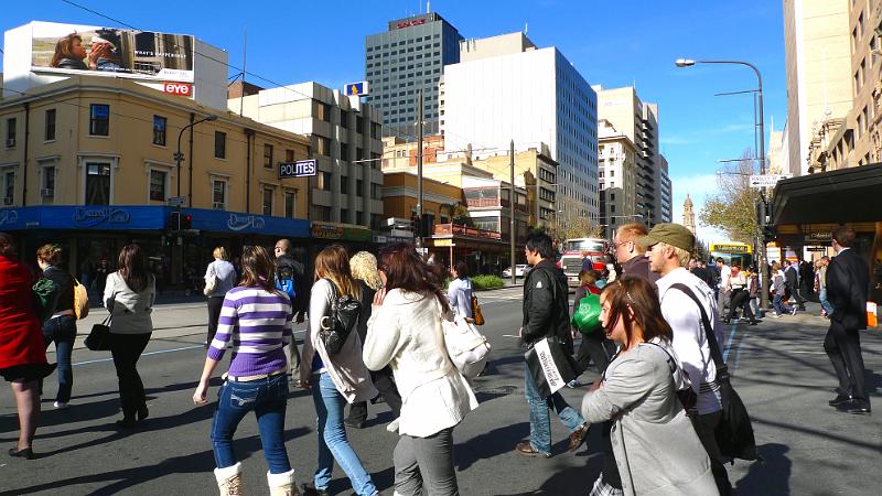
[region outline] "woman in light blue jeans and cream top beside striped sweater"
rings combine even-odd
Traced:
[[[312,388],[312,400],[319,414],[319,468],[312,484],[303,486],[305,495],[324,495],[331,483],[334,460],[352,481],[359,496],[378,494],[370,474],[346,439],[343,409],[346,403],[369,400],[377,396],[370,373],[362,362],[362,339],[357,332],[348,335],[335,355],[327,353],[322,333],[333,324],[331,304],[338,296],[356,300],[362,288],[349,269],[349,256],[340,245],[331,245],[315,257],[315,283],[310,294],[310,325],[303,339],[300,381]]]

